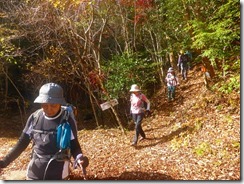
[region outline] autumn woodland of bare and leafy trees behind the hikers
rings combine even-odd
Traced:
[[[1,112],[18,111],[22,123],[40,86],[56,82],[66,99],[114,126],[124,110],[102,112],[116,98],[126,107],[138,84],[148,96],[161,85],[180,51],[202,65],[222,93],[239,91],[240,2],[178,0],[34,0],[0,2]],[[122,108],[124,109],[124,108]],[[87,119],[87,118],[85,118]]]

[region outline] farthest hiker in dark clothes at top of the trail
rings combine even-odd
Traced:
[[[189,68],[188,65],[189,65],[188,55],[183,51],[180,51],[177,66],[179,67],[183,80],[187,80],[187,72]]]

